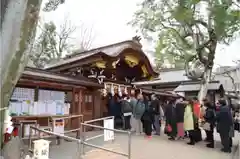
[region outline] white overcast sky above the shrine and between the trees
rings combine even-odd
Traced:
[[[44,0],[46,1],[46,0]],[[81,34],[80,26],[92,28],[94,40],[92,48],[130,40],[136,35],[135,30],[127,25],[141,0],[66,0],[56,11],[41,13],[42,22],[54,21],[56,25],[64,22],[66,17],[79,29],[72,35],[75,43]],[[153,45],[144,42],[145,50],[153,50]],[[240,38],[230,46],[218,46],[215,63],[234,65],[233,60],[240,59]],[[153,57],[150,61],[153,61]]]

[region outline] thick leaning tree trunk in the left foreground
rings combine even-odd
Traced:
[[[8,108],[12,91],[27,64],[32,42],[36,33],[38,15],[42,0],[8,0],[4,2],[1,17],[2,43],[1,68],[1,105]],[[0,111],[0,142],[3,141],[4,111]],[[1,147],[2,148],[2,147]],[[17,154],[16,154],[17,157]],[[19,159],[19,158],[18,158]]]

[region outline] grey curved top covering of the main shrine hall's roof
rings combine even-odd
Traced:
[[[76,51],[74,55],[68,56],[55,64],[48,65],[47,67],[45,67],[45,69],[55,70],[55,69],[61,68],[62,66],[71,65],[76,62],[79,63],[79,61],[86,62],[86,59],[89,59],[99,54],[102,54],[108,57],[118,57],[126,49],[132,49],[134,51],[139,52],[141,56],[145,59],[144,61],[150,73],[154,76],[158,75],[158,73],[153,70],[148,57],[143,52],[142,45],[134,40],[127,40],[127,41],[99,47],[99,48],[92,49],[85,52]]]

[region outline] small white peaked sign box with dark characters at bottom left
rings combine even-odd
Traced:
[[[49,159],[49,144],[48,140],[36,140],[33,141],[34,149],[33,149],[33,158],[34,159]]]

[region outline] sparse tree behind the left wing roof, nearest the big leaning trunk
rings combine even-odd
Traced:
[[[36,67],[41,68],[51,61],[61,59],[72,47],[69,40],[76,27],[66,18],[59,30],[52,21],[44,23],[43,27],[39,25],[39,28],[41,34],[35,41],[30,59]]]

